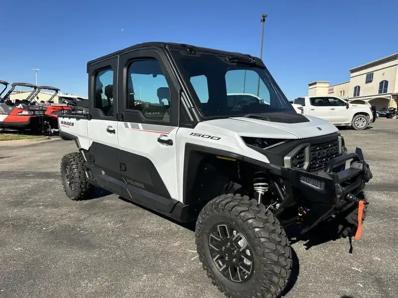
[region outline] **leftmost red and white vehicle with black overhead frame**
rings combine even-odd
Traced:
[[[4,85],[1,94],[7,88],[8,83],[0,81]],[[12,102],[9,95],[14,91],[16,86],[30,87],[33,90],[25,99],[16,99]],[[28,83],[12,83],[11,88],[4,95],[0,97],[0,128],[15,129],[15,130],[30,130],[35,132],[45,131],[45,124],[48,122],[48,117],[44,113],[41,106],[31,105],[32,97],[37,94],[37,86]]]

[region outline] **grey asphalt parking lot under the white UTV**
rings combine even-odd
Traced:
[[[398,297],[398,120],[372,126],[341,130],[374,175],[362,239],[352,253],[347,239],[293,244],[298,259],[284,297]],[[59,164],[75,150],[61,140],[0,144],[0,297],[224,297],[199,264],[190,226],[100,189],[69,201]]]

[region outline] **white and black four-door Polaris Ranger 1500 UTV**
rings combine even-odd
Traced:
[[[372,178],[361,150],[346,153],[334,125],[297,113],[259,58],[151,42],[87,71],[87,113],[58,117],[79,149],[61,161],[67,196],[95,185],[196,220],[199,260],[227,297],[281,294],[290,224],[360,232]]]

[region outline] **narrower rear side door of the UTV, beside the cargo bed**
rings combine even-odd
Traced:
[[[116,193],[121,192],[119,146],[117,143],[117,57],[89,66],[89,110],[87,121],[90,142],[87,162],[97,182]]]

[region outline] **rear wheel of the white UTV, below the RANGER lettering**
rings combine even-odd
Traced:
[[[85,200],[91,185],[86,180],[81,153],[73,152],[64,155],[61,160],[61,177],[64,191],[72,201]]]

